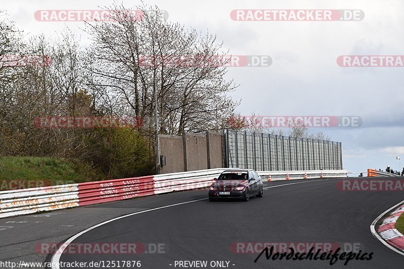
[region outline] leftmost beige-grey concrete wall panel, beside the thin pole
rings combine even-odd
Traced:
[[[161,173],[184,172],[184,146],[181,136],[160,135],[161,155],[166,156],[166,166]]]

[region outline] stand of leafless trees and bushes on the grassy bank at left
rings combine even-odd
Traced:
[[[156,111],[161,134],[228,127],[239,104],[228,93],[237,85],[225,79],[222,60],[228,51],[215,35],[165,21],[157,7],[136,7],[140,17],[122,5],[107,9],[112,21],[86,24],[92,38],[86,47],[68,28],[56,40],[44,35],[27,40],[0,14],[1,155],[72,157],[114,176],[136,162],[149,169]],[[24,65],[30,55],[39,64]],[[35,125],[38,118],[65,116],[134,116],[144,125],[125,130]]]

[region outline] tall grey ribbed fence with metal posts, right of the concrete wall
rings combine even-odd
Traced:
[[[227,130],[228,167],[256,171],[339,170],[341,142]]]

